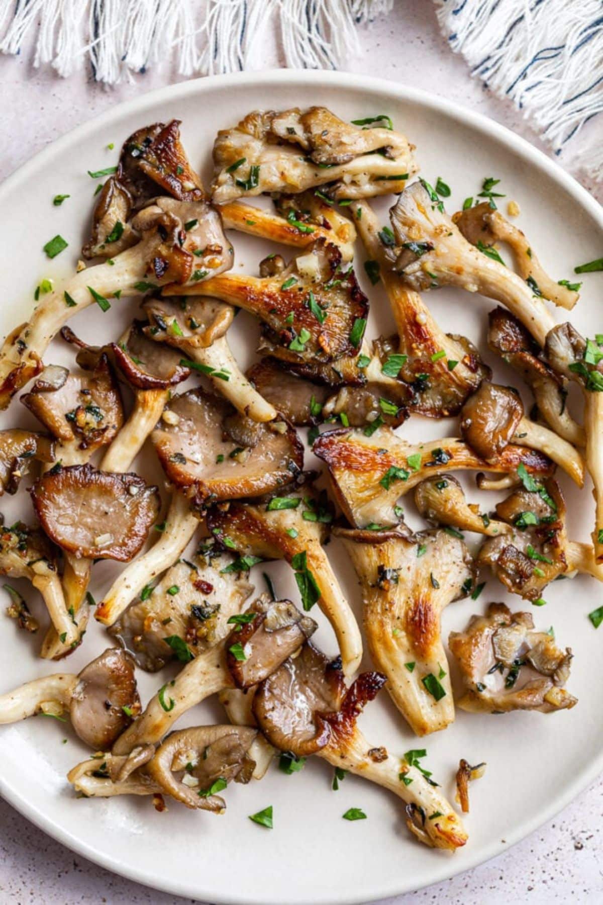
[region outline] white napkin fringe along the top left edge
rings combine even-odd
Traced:
[[[35,32],[34,66],[62,76],[90,62],[116,84],[158,63],[181,75],[245,69],[269,20],[284,62],[334,68],[359,49],[356,25],[393,0],[0,0],[0,52],[18,53]]]

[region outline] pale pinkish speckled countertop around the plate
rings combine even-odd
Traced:
[[[432,5],[426,0],[397,3],[391,16],[363,30],[363,52],[348,69],[434,91],[503,123],[546,150],[521,114],[469,78],[465,63],[440,37]],[[375,71],[374,61],[379,61]],[[263,65],[278,65],[278,58]],[[0,92],[5,141],[0,148],[0,178],[45,144],[119,100],[178,81],[166,71],[151,71],[130,84],[105,89],[74,77],[55,78],[30,67],[27,52],[0,57]],[[599,201],[603,186],[581,180]],[[510,769],[512,769],[510,765]],[[603,780],[589,788],[551,823],[508,853],[446,883],[387,900],[506,905],[518,903],[603,901]],[[72,905],[178,905],[184,899],[146,889],[73,855],[0,800],[0,903]]]

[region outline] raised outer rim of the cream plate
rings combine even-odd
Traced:
[[[0,204],[4,199],[4,195],[11,193],[18,188],[22,180],[27,180],[30,174],[37,171],[41,167],[46,157],[51,157],[57,151],[61,152],[63,148],[69,148],[72,143],[77,142],[80,138],[87,138],[90,134],[98,129],[102,129],[105,125],[110,124],[113,119],[124,113],[135,114],[140,110],[144,110],[146,105],[153,106],[161,104],[165,101],[180,100],[195,93],[203,94],[212,91],[214,88],[223,89],[233,87],[236,88],[241,79],[246,80],[246,84],[257,86],[258,88],[266,88],[275,82],[280,84],[295,83],[297,81],[306,81],[313,83],[322,83],[340,87],[343,89],[358,89],[363,91],[378,91],[389,93],[396,100],[406,100],[411,103],[423,105],[431,111],[442,112],[446,116],[459,121],[463,126],[484,134],[487,138],[495,138],[498,142],[509,148],[514,154],[526,160],[527,163],[536,167],[571,195],[575,201],[581,205],[583,209],[593,218],[603,232],[603,206],[589,194],[589,191],[580,186],[574,176],[566,172],[555,160],[540,149],[532,145],[526,138],[517,135],[512,129],[490,119],[483,113],[478,113],[458,103],[456,100],[448,100],[429,91],[410,87],[407,84],[391,81],[385,78],[367,76],[359,73],[348,71],[325,71],[325,70],[304,70],[304,69],[266,69],[261,71],[240,71],[231,72],[223,75],[204,76],[201,78],[191,79],[188,81],[176,82],[174,84],[165,85],[160,88],[148,90],[137,95],[130,100],[124,100],[116,106],[99,113],[86,122],[80,123],[79,126],[70,129],[60,138],[56,138],[49,144],[38,151],[33,157],[30,157],[24,164],[16,167],[14,171],[6,176],[0,184]],[[427,883],[416,887],[412,883],[403,882],[401,878],[392,875],[390,881],[382,881],[371,891],[371,899],[367,900],[366,896],[351,895],[345,896],[343,899],[333,900],[332,898],[321,897],[320,894],[314,895],[312,899],[313,905],[363,905],[367,901],[375,901],[389,897],[403,895],[410,891],[426,889],[435,883],[446,881],[460,873],[466,873],[478,867],[497,855],[508,851],[517,843],[521,842],[530,834],[534,833],[540,826],[547,823],[556,814],[570,803],[589,786],[603,772],[603,749],[601,749],[598,757],[593,758],[588,768],[585,768],[578,776],[575,776],[569,786],[560,795],[557,795],[548,807],[533,817],[528,817],[522,824],[513,828],[504,842],[490,843],[485,849],[476,851],[469,856],[468,863],[464,863],[462,869],[456,870],[452,858],[442,857],[439,860],[437,855],[434,857],[433,876]],[[149,889],[164,891],[173,895],[183,896],[185,898],[196,901],[203,896],[198,888],[194,888],[187,881],[179,881],[177,877],[171,878],[169,881],[163,881],[161,878],[150,879],[138,871],[136,865],[130,865],[126,862],[120,862],[110,854],[97,853],[92,846],[75,836],[69,830],[62,827],[45,816],[42,810],[32,802],[24,798],[5,776],[0,774],[0,795],[5,801],[14,807],[14,809],[22,814],[27,820],[35,824],[43,833],[49,835],[56,842],[65,845],[72,852],[80,854],[88,861],[99,865],[110,872],[116,873],[127,880],[135,881]],[[217,905],[265,905],[259,900],[248,897],[244,891],[238,891],[235,898],[231,895],[211,894],[212,901]],[[296,905],[300,905],[303,900],[291,900]]]

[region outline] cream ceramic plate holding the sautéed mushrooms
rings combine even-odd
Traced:
[[[494,122],[448,100],[364,76],[246,73],[184,82],[120,105],[56,141],[6,180],[0,188],[4,286],[0,332],[5,334],[26,318],[34,287],[43,277],[59,280],[75,264],[96,185],[86,171],[115,163],[121,142],[134,129],[158,119],[182,119],[184,146],[193,166],[200,167],[209,180],[217,129],[234,124],[258,107],[284,109],[310,104],[325,104],[343,119],[390,114],[396,127],[416,143],[422,174],[434,182],[442,176],[452,187],[447,205],[450,212],[457,210],[466,195],[476,195],[485,176],[500,178],[499,187],[507,199],[521,205],[519,224],[556,278],[570,278],[575,264],[600,255],[601,208],[559,167]],[[107,149],[110,142],[115,143],[113,152]],[[71,198],[61,207],[53,207],[52,197],[58,193],[70,194]],[[384,224],[392,200],[379,205]],[[61,233],[70,247],[49,262],[42,254],[42,245],[56,233]],[[238,234],[233,234],[233,242],[237,271],[256,272],[265,246]],[[358,255],[357,269],[363,281],[362,252]],[[392,330],[382,291],[367,286],[366,281],[363,285],[372,300],[369,335]],[[596,317],[600,291],[601,275],[588,275],[579,306],[572,314],[578,328],[590,336],[603,329],[603,319]],[[114,303],[108,314],[93,306],[73,319],[72,327],[90,342],[115,338],[131,317],[134,304],[128,300]],[[485,349],[486,312],[494,307],[491,301],[440,290],[429,294],[429,305],[445,329],[464,333]],[[256,333],[253,320],[241,314],[232,337],[242,364],[250,359]],[[46,357],[47,362],[70,360],[60,340]],[[510,371],[496,367],[495,373],[505,382],[516,383]],[[24,407],[14,400],[3,415],[2,426],[33,424],[28,418]],[[454,427],[413,418],[401,432],[426,439],[444,436],[450,429]],[[150,459],[141,467],[146,475],[160,480]],[[586,539],[593,512],[589,490],[574,493],[567,481],[562,483],[568,491],[570,535]],[[475,486],[472,498],[477,499]],[[482,497],[485,509],[494,502],[493,497]],[[7,519],[12,519],[17,515],[31,518],[29,507],[22,492],[16,499],[2,500],[1,508]],[[412,509],[411,504],[407,509]],[[334,542],[329,552],[344,589],[357,607],[355,579],[344,551]],[[92,591],[97,599],[108,588],[112,571],[114,567],[108,564],[95,568]],[[272,564],[269,572],[281,594],[297,599],[288,567]],[[262,589],[261,567],[255,570],[255,578]],[[31,588],[24,586],[23,590],[33,598]],[[478,601],[461,601],[448,607],[445,636],[452,628],[464,626],[473,612],[483,612],[493,599],[504,600],[513,609],[521,608],[518,598],[507,599],[502,586],[490,579]],[[569,688],[579,698],[573,710],[546,717],[538,713],[493,717],[459,712],[456,722],[444,733],[420,741],[411,735],[385,691],[363,716],[368,738],[375,745],[385,745],[392,754],[427,748],[426,766],[451,797],[459,757],[466,757],[470,763],[487,762],[485,778],[471,788],[471,814],[466,818],[469,842],[454,856],[414,842],[404,826],[400,799],[380,788],[348,776],[338,792],[332,791],[333,771],[318,759],[308,762],[300,774],[286,776],[274,767],[260,783],[229,787],[228,811],[221,817],[190,812],[176,803],[169,805],[167,813],[157,814],[150,799],[77,800],[65,774],[86,751],[68,724],[42,717],[0,729],[0,791],[45,832],[91,861],[129,879],[194,899],[263,905],[283,901],[289,905],[361,902],[441,881],[491,858],[532,832],[603,769],[597,679],[601,637],[587,618],[601,603],[600,588],[595,581],[580,577],[554,584],[547,590],[546,599],[548,605],[534,609],[533,614],[544,629],[554,625],[561,645],[573,648]],[[40,604],[35,612],[42,615]],[[35,676],[58,672],[55,664],[36,658],[40,638],[24,636],[13,623],[4,618],[0,621],[0,691]],[[85,643],[62,663],[63,669],[78,671],[104,649],[103,631],[94,620],[90,622]],[[318,643],[334,652],[333,636],[324,625]],[[165,674],[169,671],[161,676],[141,673],[143,700],[165,681]],[[217,703],[188,716],[187,722],[197,725],[223,719]],[[64,738],[66,744],[62,743]],[[248,814],[267,805],[274,807],[272,831],[247,819]],[[342,820],[351,806],[362,807],[368,820]],[[43,865],[40,867],[43,872]]]

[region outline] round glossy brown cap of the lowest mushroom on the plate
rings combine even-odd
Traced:
[[[307,757],[325,748],[331,730],[321,715],[339,710],[344,697],[340,663],[306,643],[259,685],[253,714],[271,745]]]

